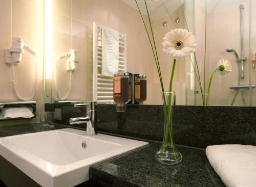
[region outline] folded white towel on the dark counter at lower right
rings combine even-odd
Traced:
[[[206,156],[226,186],[256,186],[256,146],[208,146]]]

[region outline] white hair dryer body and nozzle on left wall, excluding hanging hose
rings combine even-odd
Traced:
[[[5,49],[5,63],[14,64],[22,61],[22,54],[24,50],[28,51],[31,55],[35,56],[35,51],[28,47],[23,42],[22,38],[13,37],[12,46],[10,49]]]

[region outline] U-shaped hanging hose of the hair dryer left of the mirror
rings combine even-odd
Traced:
[[[36,58],[36,62],[35,62],[35,85],[34,85],[34,92],[33,95],[29,98],[24,98],[22,96],[19,95],[18,91],[17,91],[17,85],[16,85],[16,81],[15,81],[15,72],[14,72],[14,65],[12,64],[12,69],[11,69],[11,73],[12,73],[12,90],[13,93],[16,95],[16,97],[21,100],[21,101],[29,101],[31,99],[33,99],[36,96],[36,91],[37,91],[37,64],[38,64],[38,59],[37,56],[35,56]]]

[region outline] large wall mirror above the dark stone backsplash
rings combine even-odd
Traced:
[[[137,2],[148,27],[145,2]],[[162,52],[161,43],[167,32],[183,28],[197,39],[196,68],[205,93],[218,61],[226,59],[231,63],[232,71],[227,76],[217,72],[212,78],[209,105],[256,105],[253,11],[256,1],[146,0],[146,3],[166,90],[173,60]],[[102,32],[110,30],[118,37],[116,71],[146,75],[147,99],[143,104],[162,104],[152,48],[135,0],[53,0],[52,6],[46,8],[51,15],[48,23],[52,25],[48,30],[52,31],[48,33],[52,43],[47,44],[52,50],[47,53],[46,49],[46,59],[51,59],[50,65],[46,64],[46,71],[51,74],[46,77],[46,102],[113,103],[113,77],[101,74],[105,48]],[[194,67],[193,55],[177,60],[173,90],[178,105],[203,104]]]

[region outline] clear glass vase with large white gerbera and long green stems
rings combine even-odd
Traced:
[[[144,0],[144,2],[145,2],[145,8],[147,10],[148,22],[150,23],[150,29],[147,29],[144,18],[138,6],[137,0],[135,0],[135,2],[139,10],[141,19],[143,21],[143,25],[146,30],[148,40],[150,41],[150,46],[152,48],[155,64],[157,67],[157,72],[159,75],[161,90],[162,90],[163,109],[164,109],[164,137],[163,137],[163,143],[159,151],[157,151],[157,153],[155,154],[155,157],[157,161],[163,164],[178,164],[181,162],[182,156],[181,156],[181,153],[175,147],[174,140],[173,140],[173,133],[172,133],[172,125],[173,125],[172,106],[175,100],[174,99],[175,94],[173,92],[174,72],[175,72],[177,58],[189,57],[191,53],[196,51],[196,46],[197,46],[196,39],[193,34],[189,33],[185,29],[175,29],[165,34],[163,38],[164,41],[162,42],[163,51],[166,53],[167,57],[173,58],[174,61],[173,61],[172,74],[170,76],[169,91],[164,92],[162,73],[161,73],[160,63],[158,59],[158,52],[157,52],[155,37],[152,29],[150,14],[148,13],[148,9],[147,9],[146,0]]]

